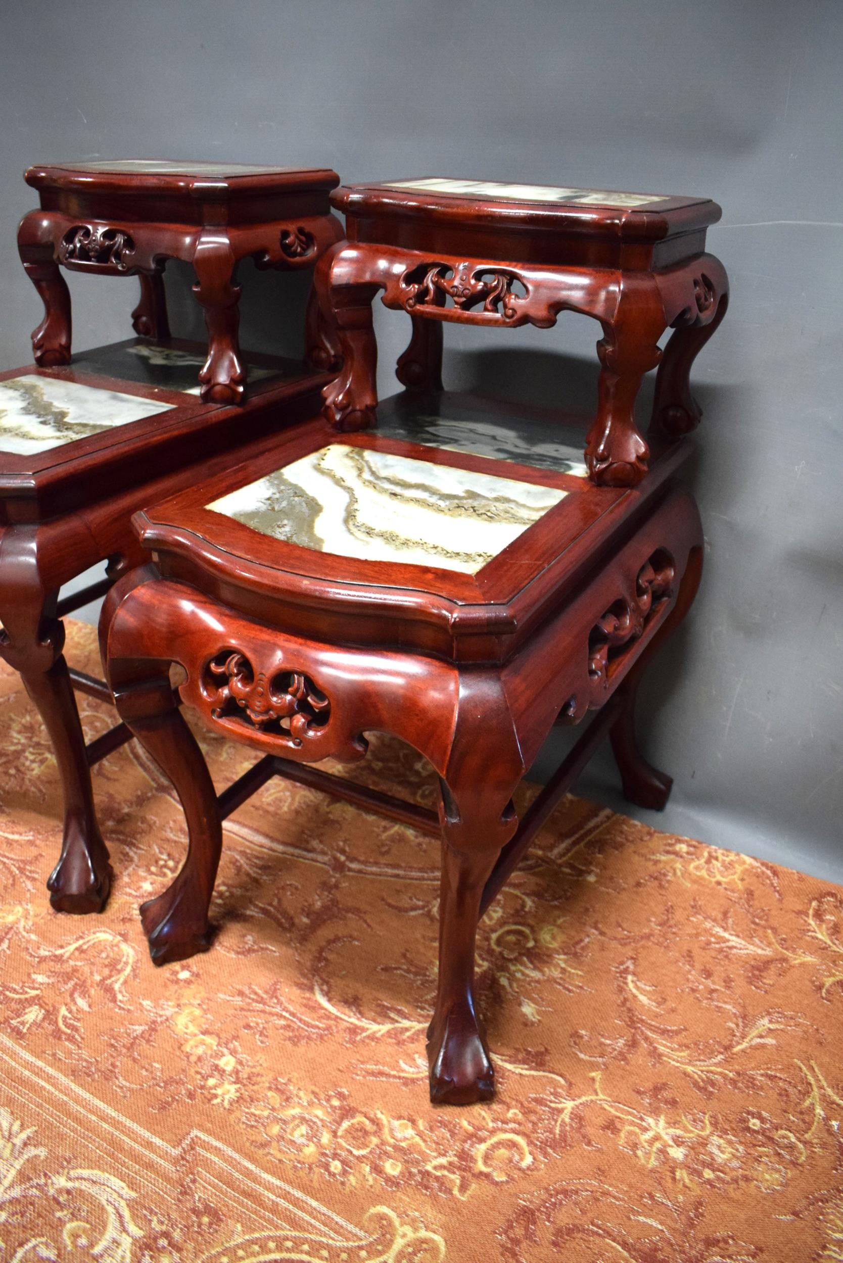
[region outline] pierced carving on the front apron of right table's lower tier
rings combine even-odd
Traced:
[[[205,664],[202,693],[214,719],[234,719],[297,746],[324,729],[331,715],[330,701],[307,676],[298,671],[267,676],[236,649],[221,649]]]

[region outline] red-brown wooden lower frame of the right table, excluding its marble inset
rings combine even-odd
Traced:
[[[699,517],[670,479],[688,450],[671,447],[634,489],[571,479],[579,490],[484,567],[492,578],[311,553],[203,508],[270,460],[278,467],[330,436],[324,422],[307,423],[272,455],[249,456],[135,517],[154,561],[106,597],[104,662],[121,719],[173,778],[190,834],[185,868],[144,906],[143,923],[158,964],[203,950],[222,813],[291,764],[354,762],[367,733],[399,736],[441,782],[431,1099],[484,1100],[494,1076],[474,1000],[474,942],[482,911],[543,818],[519,826],[516,817],[525,770],[560,716],[576,724],[610,702],[550,807],[609,730],[627,791],[655,802],[657,782],[666,797],[667,778],[636,745],[632,710],[643,662],[685,614],[699,578]],[[551,485],[559,477],[547,474]],[[576,514],[559,512],[576,500]],[[219,802],[167,686],[173,662],[186,673],[182,701],[269,760]],[[330,781],[322,774],[322,787]],[[343,797],[397,813],[346,787],[336,786]]]

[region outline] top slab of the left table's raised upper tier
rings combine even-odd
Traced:
[[[238,197],[260,192],[336,188],[340,177],[329,167],[250,167],[239,163],[120,159],[64,162],[30,167],[33,188],[83,193],[183,193],[191,197]]]

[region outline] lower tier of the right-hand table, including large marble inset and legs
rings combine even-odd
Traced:
[[[493,423],[484,408],[483,440]],[[383,408],[383,405],[382,405]],[[445,428],[452,428],[444,404]],[[144,904],[155,964],[209,947],[221,821],[273,775],[441,837],[431,1100],[493,1094],[474,998],[479,917],[608,734],[624,792],[662,806],[670,778],[634,740],[641,673],[691,604],[701,530],[671,485],[686,443],[636,489],[417,441],[430,418],[343,436],[315,421],[135,518],[148,563],[106,597],[101,643],[118,710],[173,781],[190,846]],[[513,418],[498,418],[500,443]],[[581,443],[581,436],[580,436]],[[570,465],[581,460],[574,448]],[[263,757],[219,797],[169,686]],[[556,721],[586,727],[518,822],[512,794]],[[316,768],[393,733],[440,777],[439,813]]]

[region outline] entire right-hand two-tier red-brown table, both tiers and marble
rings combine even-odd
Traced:
[[[530,188],[519,200],[512,187],[499,202],[497,189],[451,196],[428,181],[335,195],[351,240],[317,269],[345,361],[324,417],[139,513],[153,560],[115,585],[100,621],[121,719],[171,775],[188,823],[182,870],[142,908],[153,960],[210,945],[221,821],[273,775],[434,834],[427,1052],[431,1099],[451,1104],[493,1094],[476,926],[550,811],[607,735],[628,798],[661,807],[670,792],[636,744],[634,698],[699,584],[699,515],[674,479],[691,445],[676,432],[698,416],[686,370],[725,304],[723,269],[703,254],[714,203],[640,198],[629,210],[633,195]],[[380,404],[378,289],[413,317],[398,362],[407,389]],[[565,306],[604,328],[588,445],[588,421],[439,389],[447,321],[545,325]],[[674,350],[647,445],[632,403],[667,323]],[[219,797],[173,696],[173,662],[181,700],[263,755]],[[590,712],[519,822],[512,796],[551,727]],[[370,731],[428,759],[436,813],[303,767],[361,759]]]

